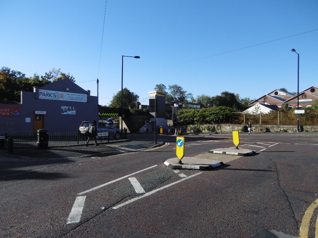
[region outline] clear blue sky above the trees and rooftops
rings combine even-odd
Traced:
[[[28,77],[61,68],[94,96],[99,78],[105,105],[121,90],[121,56],[140,56],[124,57],[123,85],[142,104],[159,83],[194,97],[229,91],[252,99],[297,91],[294,48],[299,90],[318,86],[316,0],[107,0],[101,48],[105,3],[1,1],[0,67]]]

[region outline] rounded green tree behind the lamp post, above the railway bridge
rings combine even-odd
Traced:
[[[135,102],[134,102],[135,99]],[[136,102],[138,103],[139,96],[134,92],[129,91],[127,88],[122,89],[122,107],[123,108],[136,108]],[[121,108],[121,90],[113,95],[109,107]]]

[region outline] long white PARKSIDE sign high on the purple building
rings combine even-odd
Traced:
[[[39,89],[40,99],[87,102],[87,94],[69,93]]]

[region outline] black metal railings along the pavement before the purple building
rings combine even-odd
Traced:
[[[48,131],[49,146],[79,145],[87,141],[88,136],[79,131]],[[13,138],[13,147],[36,147],[38,133],[34,132],[6,132],[5,146],[8,146],[8,138]],[[108,132],[108,136],[98,137],[97,142],[114,141],[114,132]],[[90,140],[93,143],[94,140]]]

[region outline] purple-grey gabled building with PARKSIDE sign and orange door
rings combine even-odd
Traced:
[[[0,133],[78,131],[81,122],[98,120],[98,98],[69,79],[33,92],[21,92],[21,104],[0,104]]]

